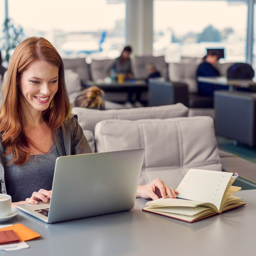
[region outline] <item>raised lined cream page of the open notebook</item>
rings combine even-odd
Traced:
[[[212,203],[218,209],[232,172],[190,169],[177,188],[182,199]]]

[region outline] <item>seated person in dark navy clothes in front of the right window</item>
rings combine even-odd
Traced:
[[[214,65],[219,60],[219,52],[212,51],[204,57],[204,62],[201,63],[196,71],[196,77],[198,76],[219,76],[219,71],[214,68]],[[209,84],[204,82],[198,82],[198,94],[200,96],[213,97],[213,91],[215,90],[227,90],[227,86]]]

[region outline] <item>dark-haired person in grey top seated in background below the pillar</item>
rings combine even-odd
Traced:
[[[125,46],[121,55],[115,59],[112,65],[108,68],[108,72],[111,69],[115,71],[115,77],[118,77],[118,74],[123,74],[124,79],[132,79],[132,70],[131,70],[131,59],[130,54],[132,52],[131,46]]]

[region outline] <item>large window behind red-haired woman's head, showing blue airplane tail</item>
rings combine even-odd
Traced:
[[[4,1],[0,4],[4,13]],[[9,0],[8,9],[25,38],[45,37],[62,57],[114,58],[125,44],[122,1]]]

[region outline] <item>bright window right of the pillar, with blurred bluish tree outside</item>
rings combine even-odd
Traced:
[[[167,62],[225,48],[225,62],[246,61],[247,5],[241,1],[154,0],[155,55]]]

